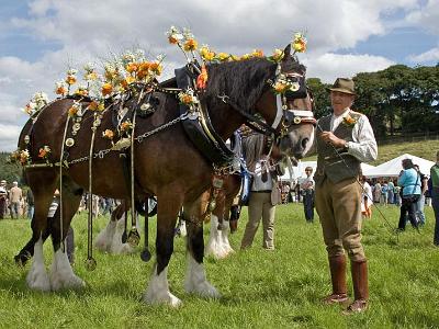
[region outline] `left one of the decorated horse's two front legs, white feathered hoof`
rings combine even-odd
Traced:
[[[149,304],[166,303],[177,307],[181,300],[169,291],[168,264],[173,252],[173,232],[183,193],[175,186],[165,186],[158,191],[157,201],[157,261],[143,299]]]

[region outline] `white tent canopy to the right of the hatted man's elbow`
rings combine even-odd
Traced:
[[[363,174],[368,178],[376,178],[376,177],[398,177],[401,170],[403,170],[402,160],[404,159],[412,159],[414,164],[419,166],[419,170],[421,173],[428,174],[430,172],[431,166],[435,162],[415,157],[408,154],[404,154],[395,159],[392,159],[387,162],[381,163],[371,170],[368,170]]]

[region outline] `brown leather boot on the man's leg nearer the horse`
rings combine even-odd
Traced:
[[[345,303],[348,300],[346,286],[346,257],[345,254],[329,258],[330,280],[333,293],[323,299],[326,305]]]

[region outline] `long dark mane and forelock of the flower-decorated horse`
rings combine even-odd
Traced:
[[[274,80],[275,68],[277,64],[266,58],[212,64],[207,67],[205,100],[210,106],[215,106],[221,102],[218,95],[227,95],[240,109],[251,112],[262,93],[270,88],[267,80]],[[282,68],[284,71],[306,71],[295,59],[286,60]]]

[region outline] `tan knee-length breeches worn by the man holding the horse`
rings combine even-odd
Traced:
[[[315,205],[329,258],[344,254],[346,250],[351,261],[364,261],[361,245],[361,186],[357,178],[338,183],[326,178],[316,186],[315,193]]]

